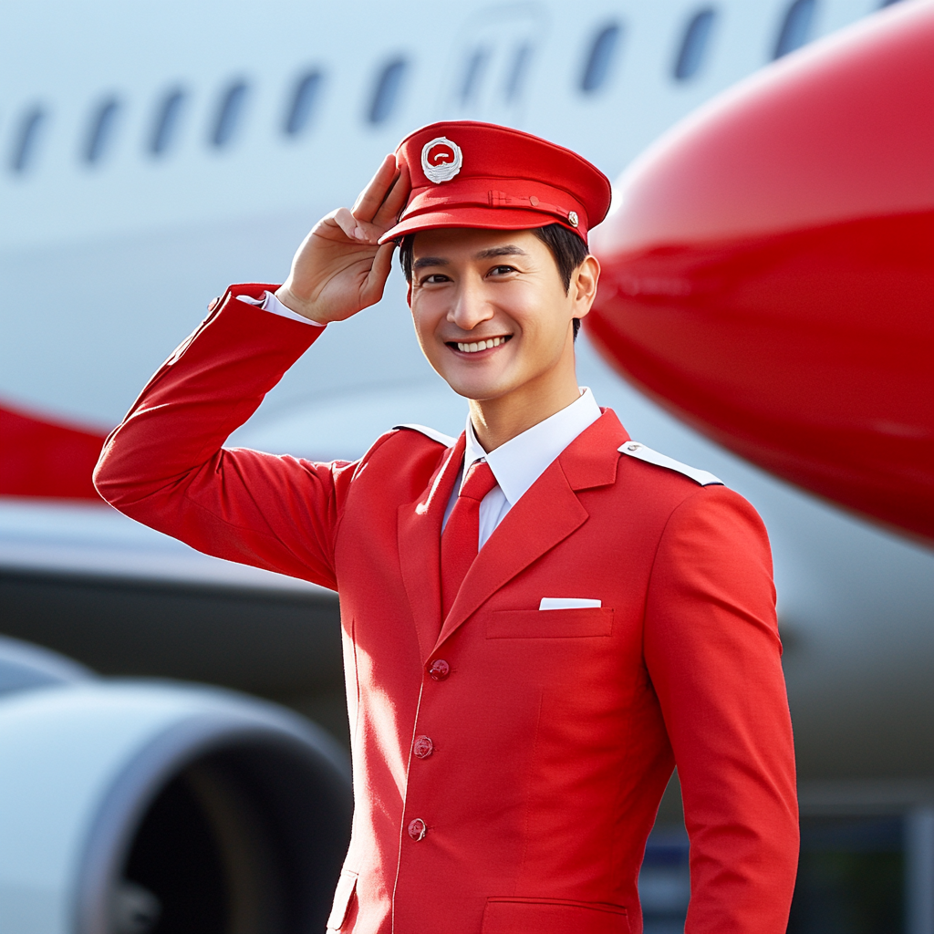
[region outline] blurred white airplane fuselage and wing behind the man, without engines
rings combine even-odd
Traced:
[[[149,374],[229,281],[281,280],[310,225],[352,203],[417,125],[515,125],[616,178],[742,78],[853,22],[919,4],[7,4],[3,631],[100,672],[285,701],[346,737],[333,594],[198,555],[95,501],[92,462]],[[328,352],[300,361],[232,444],[352,459],[397,423],[460,432],[465,404],[421,358],[393,276],[384,301],[334,326]],[[802,868],[813,881],[836,859],[839,875],[830,894],[802,888],[789,929],[829,930],[808,918],[875,899],[904,930],[930,934],[929,547],[687,427],[623,382],[587,328],[578,361],[581,384],[633,437],[717,474],[769,528]],[[0,708],[28,700],[18,696]],[[678,821],[672,785],[646,856],[646,931],[683,924]],[[866,859],[883,870],[859,885]]]

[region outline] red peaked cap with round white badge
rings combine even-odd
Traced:
[[[610,207],[610,181],[570,149],[473,120],[432,123],[406,136],[396,159],[412,193],[386,243],[438,227],[531,230],[556,221],[580,234]]]

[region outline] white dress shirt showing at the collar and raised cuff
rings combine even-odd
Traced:
[[[248,298],[240,296],[241,302],[255,304],[263,311],[281,315],[283,318],[292,318],[323,327],[317,321],[304,318],[282,304],[276,296],[267,291],[262,298]],[[454,503],[457,502],[458,492],[463,484],[464,475],[474,460],[486,460],[489,469],[496,477],[497,486],[492,488],[480,503],[480,539],[478,550],[487,544],[493,530],[502,522],[503,517],[525,495],[531,485],[545,473],[561,451],[571,444],[578,434],[589,428],[601,417],[600,406],[594,399],[593,393],[583,387],[581,394],[570,405],[562,408],[553,416],[545,418],[537,425],[532,425],[515,438],[507,441],[495,451],[487,453],[474,434],[474,423],[467,416],[467,447],[464,451],[464,462],[460,468],[460,476],[451,497],[447,501],[444,525],[450,516]],[[444,525],[442,529],[444,529]]]

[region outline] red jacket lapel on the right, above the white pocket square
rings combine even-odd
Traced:
[[[549,465],[480,549],[447,615],[437,645],[445,642],[478,607],[532,561],[587,521],[587,510],[578,500],[577,490],[616,481],[619,460],[616,448],[628,438],[616,415],[604,410],[603,416]],[[440,606],[440,597],[436,604]]]

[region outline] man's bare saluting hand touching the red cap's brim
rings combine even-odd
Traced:
[[[395,244],[377,240],[396,223],[408,199],[408,169],[389,155],[351,210],[339,207],[315,225],[295,253],[276,298],[327,324],[343,321],[383,297]]]

